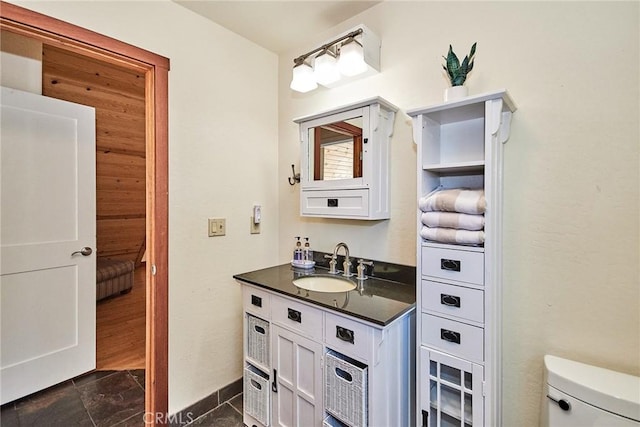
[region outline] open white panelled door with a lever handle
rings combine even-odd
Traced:
[[[95,110],[1,88],[0,400],[95,369]]]

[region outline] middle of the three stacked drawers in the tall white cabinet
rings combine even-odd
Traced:
[[[479,289],[423,280],[422,309],[484,323],[484,292]]]

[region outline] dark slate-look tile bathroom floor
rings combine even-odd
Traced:
[[[144,370],[94,371],[2,406],[2,427],[143,426]],[[222,400],[222,399],[221,399]],[[242,393],[183,426],[242,427]]]

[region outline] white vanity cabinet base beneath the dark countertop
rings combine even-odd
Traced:
[[[380,326],[250,284],[242,293],[245,425],[415,423],[413,310]]]

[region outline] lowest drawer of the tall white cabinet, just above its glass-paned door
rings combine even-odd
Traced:
[[[422,314],[422,344],[481,363],[484,330],[477,326]]]

